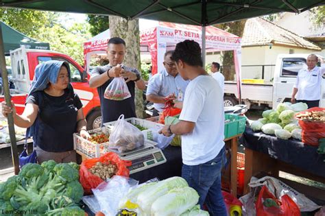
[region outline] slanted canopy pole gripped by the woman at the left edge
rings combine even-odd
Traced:
[[[5,95],[5,104],[10,104],[11,106],[8,72],[7,69],[5,69],[5,49],[3,46],[1,25],[0,25],[0,66],[2,71],[1,76],[2,76],[3,92]],[[9,128],[9,136],[10,136],[10,143],[11,143],[12,163],[14,165],[14,174],[18,175],[19,160],[18,160],[18,150],[17,150],[17,143],[16,143],[16,133],[14,132],[14,117],[12,113],[8,115],[8,128]]]

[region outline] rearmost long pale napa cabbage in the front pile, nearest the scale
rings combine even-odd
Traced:
[[[152,207],[152,204],[159,197],[162,197],[163,195],[167,194],[171,189],[175,189],[178,187],[189,187],[189,184],[187,184],[184,178],[178,176],[167,178],[166,180],[160,181],[155,184],[154,187],[148,187],[145,191],[140,193],[136,204],[138,204],[142,208],[142,210],[147,213],[147,215],[151,215],[150,209]]]

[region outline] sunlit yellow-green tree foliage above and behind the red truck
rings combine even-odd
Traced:
[[[51,50],[67,54],[79,64],[83,64],[82,44],[91,38],[88,23],[74,23],[70,27],[62,25],[62,17],[67,14],[0,8],[0,20],[17,31],[49,43]]]

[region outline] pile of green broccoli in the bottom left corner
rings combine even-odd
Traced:
[[[19,175],[0,184],[0,211],[27,215],[85,215],[77,205],[84,190],[79,165],[49,160],[42,165],[28,163]]]

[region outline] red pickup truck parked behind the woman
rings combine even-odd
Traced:
[[[10,93],[17,113],[23,113],[26,96],[32,84],[36,66],[48,60],[62,60],[69,63],[71,84],[75,93],[79,95],[82,101],[88,130],[100,127],[101,110],[97,89],[89,87],[89,75],[72,58],[57,51],[25,49],[25,47],[10,51],[10,58],[12,67],[11,76],[15,87],[14,89],[10,89]],[[3,95],[0,95],[1,101],[4,101]]]

